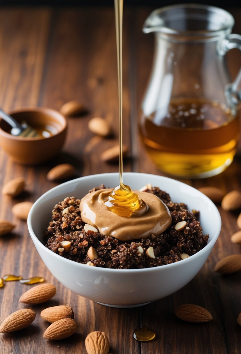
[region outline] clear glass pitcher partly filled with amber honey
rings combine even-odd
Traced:
[[[241,101],[241,71],[231,83],[225,62],[228,50],[241,49],[233,25],[229,12],[195,4],[160,8],[146,19],[143,32],[155,33],[155,53],[140,135],[168,174],[210,177],[233,161]]]

